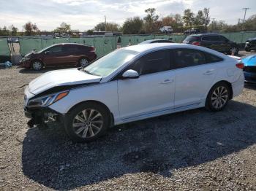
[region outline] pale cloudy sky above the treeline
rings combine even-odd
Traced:
[[[241,2],[243,2],[241,4]],[[127,17],[145,17],[145,9],[154,7],[159,17],[183,14],[184,9],[197,12],[210,8],[211,18],[236,24],[244,18],[243,7],[249,7],[246,18],[256,14],[256,0],[0,0],[0,27],[23,30],[26,22],[37,23],[39,30],[51,31],[65,22],[71,28],[86,31],[105,20],[121,25]]]

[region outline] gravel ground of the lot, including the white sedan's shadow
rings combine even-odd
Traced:
[[[0,70],[0,190],[256,190],[256,86],[222,112],[169,114],[72,144],[60,125],[26,126],[18,87],[42,72]]]

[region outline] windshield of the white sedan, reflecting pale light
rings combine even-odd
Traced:
[[[86,66],[83,71],[92,75],[107,77],[124,63],[134,58],[137,54],[138,52],[133,50],[115,50],[108,55],[99,58],[99,60],[94,61],[89,66]]]

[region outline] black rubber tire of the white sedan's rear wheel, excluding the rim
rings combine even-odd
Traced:
[[[219,86],[223,86],[227,89],[227,101],[226,103],[219,109],[216,109],[211,102],[211,95],[212,93],[214,93],[214,90],[216,90],[217,87]],[[230,100],[230,87],[228,87],[228,85],[225,82],[219,82],[216,85],[214,85],[213,87],[211,87],[211,90],[209,91],[207,98],[206,98],[206,109],[212,111],[212,112],[219,112],[222,109],[225,108],[225,106],[227,105],[227,102]]]

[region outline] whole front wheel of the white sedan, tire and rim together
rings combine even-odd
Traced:
[[[105,134],[109,125],[108,109],[95,103],[78,104],[67,113],[65,120],[67,135],[78,143],[94,141]]]

